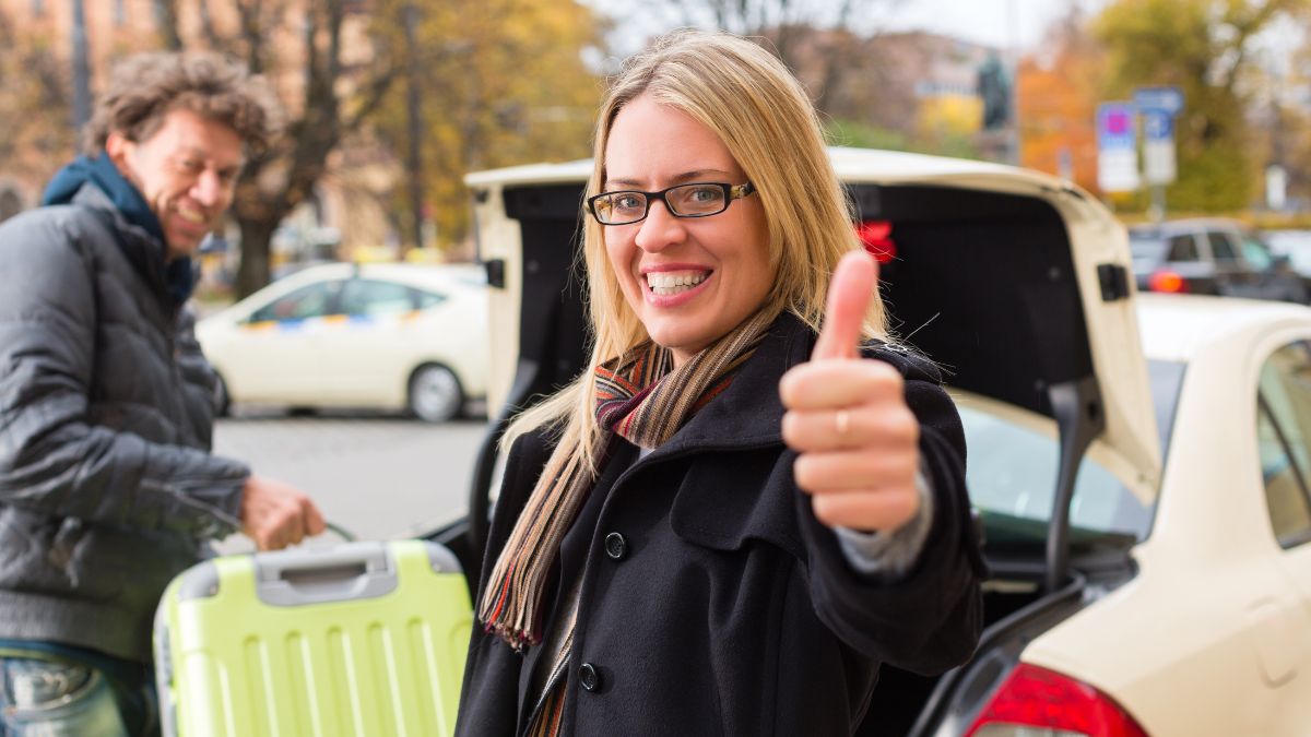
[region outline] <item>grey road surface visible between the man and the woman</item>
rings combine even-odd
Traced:
[[[216,424],[214,450],[303,488],[328,519],[361,539],[397,539],[464,514],[485,429],[482,418],[427,425],[378,416],[245,412]],[[219,549],[252,546],[232,536]]]

